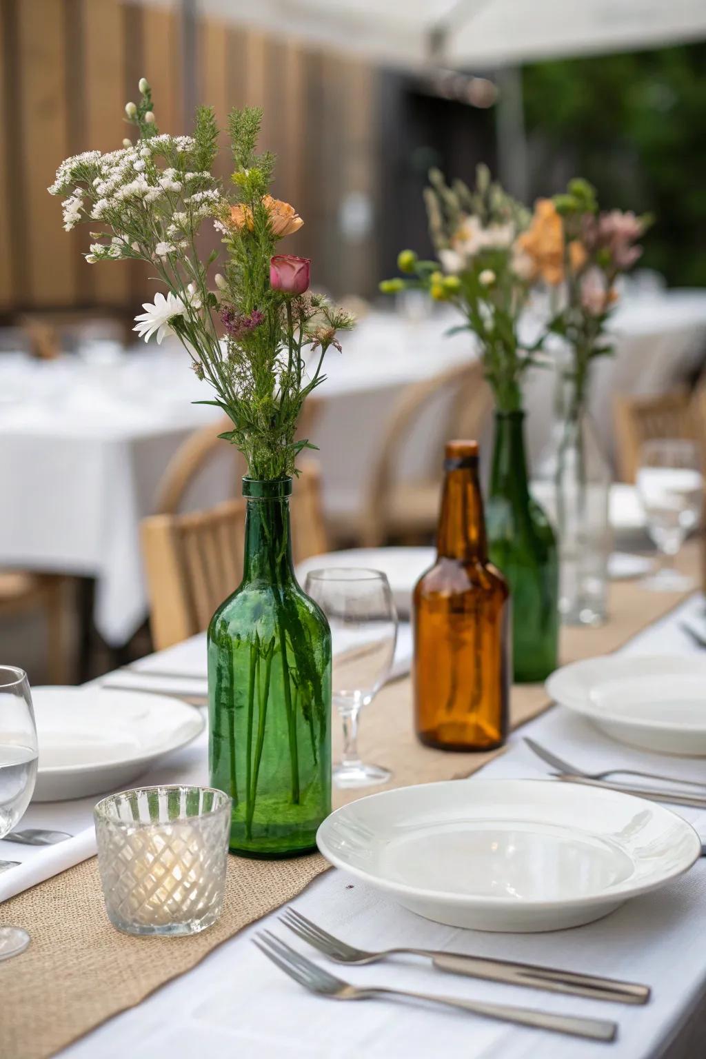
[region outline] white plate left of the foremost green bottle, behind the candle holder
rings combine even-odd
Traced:
[[[39,761],[34,802],[124,787],[162,754],[203,731],[179,699],[101,687],[33,687]]]

